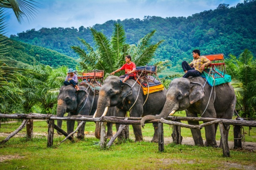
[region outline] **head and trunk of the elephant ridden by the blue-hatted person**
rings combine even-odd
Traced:
[[[79,86],[80,88],[81,86]],[[63,117],[64,113],[70,113],[71,115],[77,115],[79,113],[78,106],[81,105],[81,102],[88,96],[86,91],[81,87],[80,91],[71,85],[63,85],[58,94],[58,106],[57,106],[57,116]],[[81,106],[80,106],[81,107]],[[57,125],[61,127],[62,120],[57,120]],[[67,130],[69,131],[69,129]],[[61,134],[57,131],[58,134]]]

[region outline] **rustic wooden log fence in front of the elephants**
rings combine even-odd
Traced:
[[[83,124],[84,121],[86,122],[100,122],[101,126],[101,139],[100,139],[100,146],[101,147],[110,147],[111,144],[114,142],[116,137],[121,133],[121,131],[125,128],[125,125],[139,125],[141,118],[136,117],[114,117],[114,116],[104,116],[101,118],[92,118],[92,116],[67,116],[67,117],[56,117],[55,115],[50,114],[39,114],[39,113],[30,113],[30,114],[0,114],[0,118],[9,118],[9,119],[24,119],[20,127],[11,133],[6,139],[1,141],[0,143],[7,142],[12,136],[17,134],[25,125],[27,125],[27,137],[32,137],[32,127],[33,126],[33,119],[43,119],[47,120],[48,123],[48,140],[47,146],[51,147],[53,144],[53,132],[54,129],[61,132],[66,138],[62,141],[64,142],[66,139],[73,141],[73,137],[71,136],[75,133]],[[79,126],[73,133],[67,134],[64,130],[60,127],[55,125],[54,120],[74,120],[74,121],[81,121]],[[187,125],[181,123],[180,121],[207,121],[201,125]],[[104,123],[113,123],[113,124],[120,124],[118,132],[115,136],[111,138],[111,140],[107,143],[105,138],[105,125]],[[249,127],[256,127],[256,121],[241,121],[241,120],[229,120],[229,119],[215,119],[215,118],[196,118],[196,117],[177,117],[177,116],[168,116],[167,119],[160,119],[160,120],[152,120],[145,123],[158,123],[158,150],[164,150],[164,137],[163,137],[163,123],[168,125],[174,125],[172,138],[173,142],[176,144],[181,144],[181,136],[180,136],[180,127],[192,128],[192,129],[202,129],[205,126],[212,125],[212,124],[219,124],[221,138],[222,138],[222,146],[223,146],[223,156],[230,156],[230,150],[228,146],[228,141],[226,140],[225,136],[225,125],[234,125],[237,126],[237,129],[241,129],[241,126],[249,126]],[[235,131],[234,131],[235,132]],[[239,131],[236,130],[236,134],[234,133],[234,144],[235,147],[241,148],[241,130],[240,134]]]

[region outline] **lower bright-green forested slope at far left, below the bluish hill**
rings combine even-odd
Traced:
[[[75,68],[79,64],[76,59],[48,48],[11,39],[8,39],[7,42],[6,46],[9,48],[9,52],[0,56],[0,60],[12,67],[26,68],[28,65],[44,64],[52,67],[66,65]]]

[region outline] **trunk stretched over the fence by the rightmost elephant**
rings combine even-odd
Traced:
[[[145,126],[145,121],[150,121],[150,120],[156,120],[156,119],[166,119],[166,117],[168,117],[169,115],[172,115],[175,113],[175,111],[177,110],[177,106],[176,105],[169,105],[170,103],[173,103],[172,100],[167,99],[166,103],[163,107],[163,111],[159,114],[159,115],[147,115],[145,117],[143,117],[140,121],[140,125],[142,127]],[[176,107],[175,107],[176,106]]]

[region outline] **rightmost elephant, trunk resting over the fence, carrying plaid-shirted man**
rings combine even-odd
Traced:
[[[166,119],[170,113],[183,110],[186,110],[186,116],[189,117],[198,117],[200,114],[204,118],[232,119],[236,106],[236,95],[233,87],[230,83],[211,87],[205,82],[202,77],[173,79],[166,93],[163,111],[157,116],[143,117],[141,126],[144,126],[145,121]],[[189,125],[199,125],[199,122],[188,121],[188,123]],[[217,147],[215,140],[217,127],[218,124],[205,127],[205,143],[201,131],[191,129],[195,145]],[[230,125],[226,125],[227,137],[229,128]],[[222,142],[219,147],[222,147]]]

